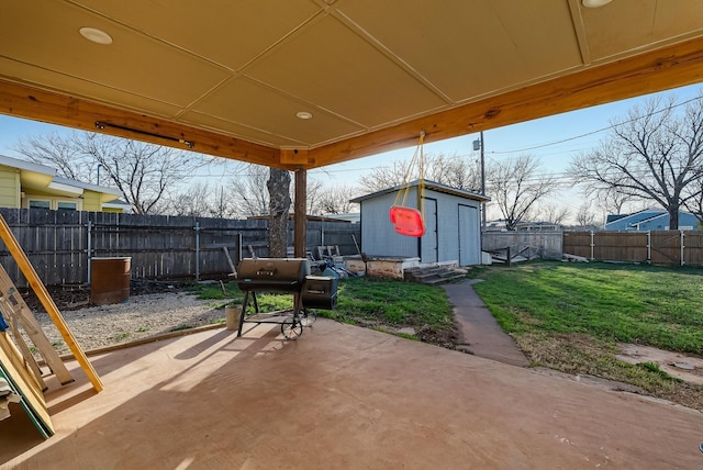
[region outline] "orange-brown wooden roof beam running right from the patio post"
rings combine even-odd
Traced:
[[[574,71],[309,152],[308,168],[338,164],[479,131],[703,81],[703,37]]]

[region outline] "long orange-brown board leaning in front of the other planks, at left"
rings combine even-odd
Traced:
[[[102,387],[102,382],[100,381],[100,378],[98,377],[98,373],[96,373],[96,370],[92,368],[92,365],[90,363],[90,361],[88,361],[86,354],[80,348],[80,346],[78,346],[78,343],[76,343],[76,338],[74,337],[72,333],[68,328],[68,325],[64,321],[64,317],[62,316],[60,312],[58,311],[58,307],[54,303],[54,300],[48,294],[46,287],[40,280],[40,277],[34,270],[34,267],[32,266],[29,258],[24,254],[24,250],[18,243],[16,238],[10,231],[10,226],[8,225],[8,223],[5,222],[4,217],[1,214],[0,214],[0,238],[2,238],[2,240],[4,242],[5,246],[8,247],[8,250],[14,258],[14,261],[18,264],[18,266],[22,270],[22,273],[24,275],[26,280],[30,282],[30,286],[34,290],[34,293],[36,294],[36,296],[40,299],[40,302],[42,302],[42,305],[44,305],[46,313],[56,325],[58,333],[62,334],[62,337],[66,342],[66,345],[76,357],[76,360],[80,365],[83,372],[86,372],[86,376],[88,377],[88,380],[90,380],[90,383],[92,383],[93,389],[96,389],[96,391],[98,392],[102,391],[103,387]]]

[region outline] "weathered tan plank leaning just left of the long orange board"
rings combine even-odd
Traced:
[[[0,292],[7,301],[7,305],[12,309],[12,313],[19,318],[24,332],[34,346],[36,346],[46,365],[52,369],[54,374],[56,374],[62,385],[72,382],[74,378],[70,376],[66,365],[62,361],[58,352],[56,352],[56,349],[54,349],[54,346],[52,346],[52,343],[44,334],[40,322],[36,321],[30,307],[26,306],[24,299],[22,299],[22,295],[18,292],[2,265],[0,265]]]

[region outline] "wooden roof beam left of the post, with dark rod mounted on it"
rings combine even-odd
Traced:
[[[3,79],[0,113],[257,165],[289,167],[281,163],[278,148]],[[98,128],[97,122],[110,125]],[[193,147],[183,142],[192,142]]]

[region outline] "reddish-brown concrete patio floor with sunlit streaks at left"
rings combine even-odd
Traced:
[[[247,325],[248,326],[248,325]],[[49,381],[57,434],[0,422],[12,469],[700,469],[703,415],[319,320],[215,329]],[[53,380],[53,379],[52,379]]]

